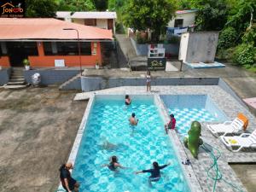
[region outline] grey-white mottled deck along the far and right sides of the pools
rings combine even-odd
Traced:
[[[233,96],[230,96],[225,90],[220,88],[218,85],[207,85],[207,86],[153,86],[152,92],[147,93],[145,86],[125,86],[117,87],[108,90],[94,91],[91,94],[99,95],[208,95],[211,96],[212,101],[218,105],[229,119],[236,118],[237,113],[244,113],[249,119],[248,132],[252,132],[256,128],[256,119],[252,113],[248,111],[240,102],[238,102]],[[84,93],[86,94],[86,93]],[[79,94],[81,96],[81,94]],[[82,94],[83,95],[83,94]],[[93,96],[92,95],[92,96]],[[166,119],[167,121],[167,119]],[[172,132],[173,134],[174,132]],[[177,133],[174,133],[178,136]],[[173,136],[171,136],[173,137]],[[205,143],[210,144],[213,148],[218,148],[221,152],[221,157],[218,160],[218,167],[223,174],[223,178],[230,183],[235,184],[242,191],[247,191],[242,185],[240,179],[236,176],[236,172],[229,166],[229,163],[256,163],[256,151],[246,150],[239,153],[230,152],[224,147],[219,138],[213,137],[210,131],[207,131],[206,123],[202,122],[202,139]],[[181,146],[183,143],[181,141]],[[202,191],[212,191],[213,180],[207,177],[207,169],[212,165],[212,159],[203,149],[200,150],[198,160],[195,160],[187,148],[178,148],[179,154],[187,154],[192,162],[192,169],[195,174],[196,180],[200,183]],[[183,158],[183,155],[182,155]],[[218,181],[216,191],[237,191],[224,182],[224,179]]]

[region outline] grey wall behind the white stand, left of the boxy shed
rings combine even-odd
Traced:
[[[136,51],[136,55],[139,56],[148,56],[148,44],[137,44],[137,42],[131,39],[131,44]],[[179,44],[164,44],[164,48],[166,49],[166,53],[171,55],[178,55]]]

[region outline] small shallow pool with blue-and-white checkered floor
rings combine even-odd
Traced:
[[[187,135],[191,122],[225,121],[228,118],[207,95],[161,95],[169,113],[177,120],[178,133]]]

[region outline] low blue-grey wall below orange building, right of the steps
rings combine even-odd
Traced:
[[[65,70],[65,69],[38,69],[24,71],[24,78],[27,83],[32,83],[32,75],[39,73],[41,75],[41,84],[63,84],[68,79],[73,78],[80,73],[79,70]]]

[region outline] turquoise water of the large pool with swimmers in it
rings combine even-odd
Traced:
[[[132,112],[139,119],[136,127],[128,122]],[[111,155],[118,156],[122,166],[131,168],[111,172],[108,167],[101,167],[108,163]],[[149,187],[149,174],[135,175],[134,172],[151,168],[155,160],[160,165],[172,164],[161,170],[160,181]],[[189,191],[153,97],[133,99],[131,106],[126,107],[123,97],[106,100],[96,96],[73,177],[81,183],[81,191]]]

